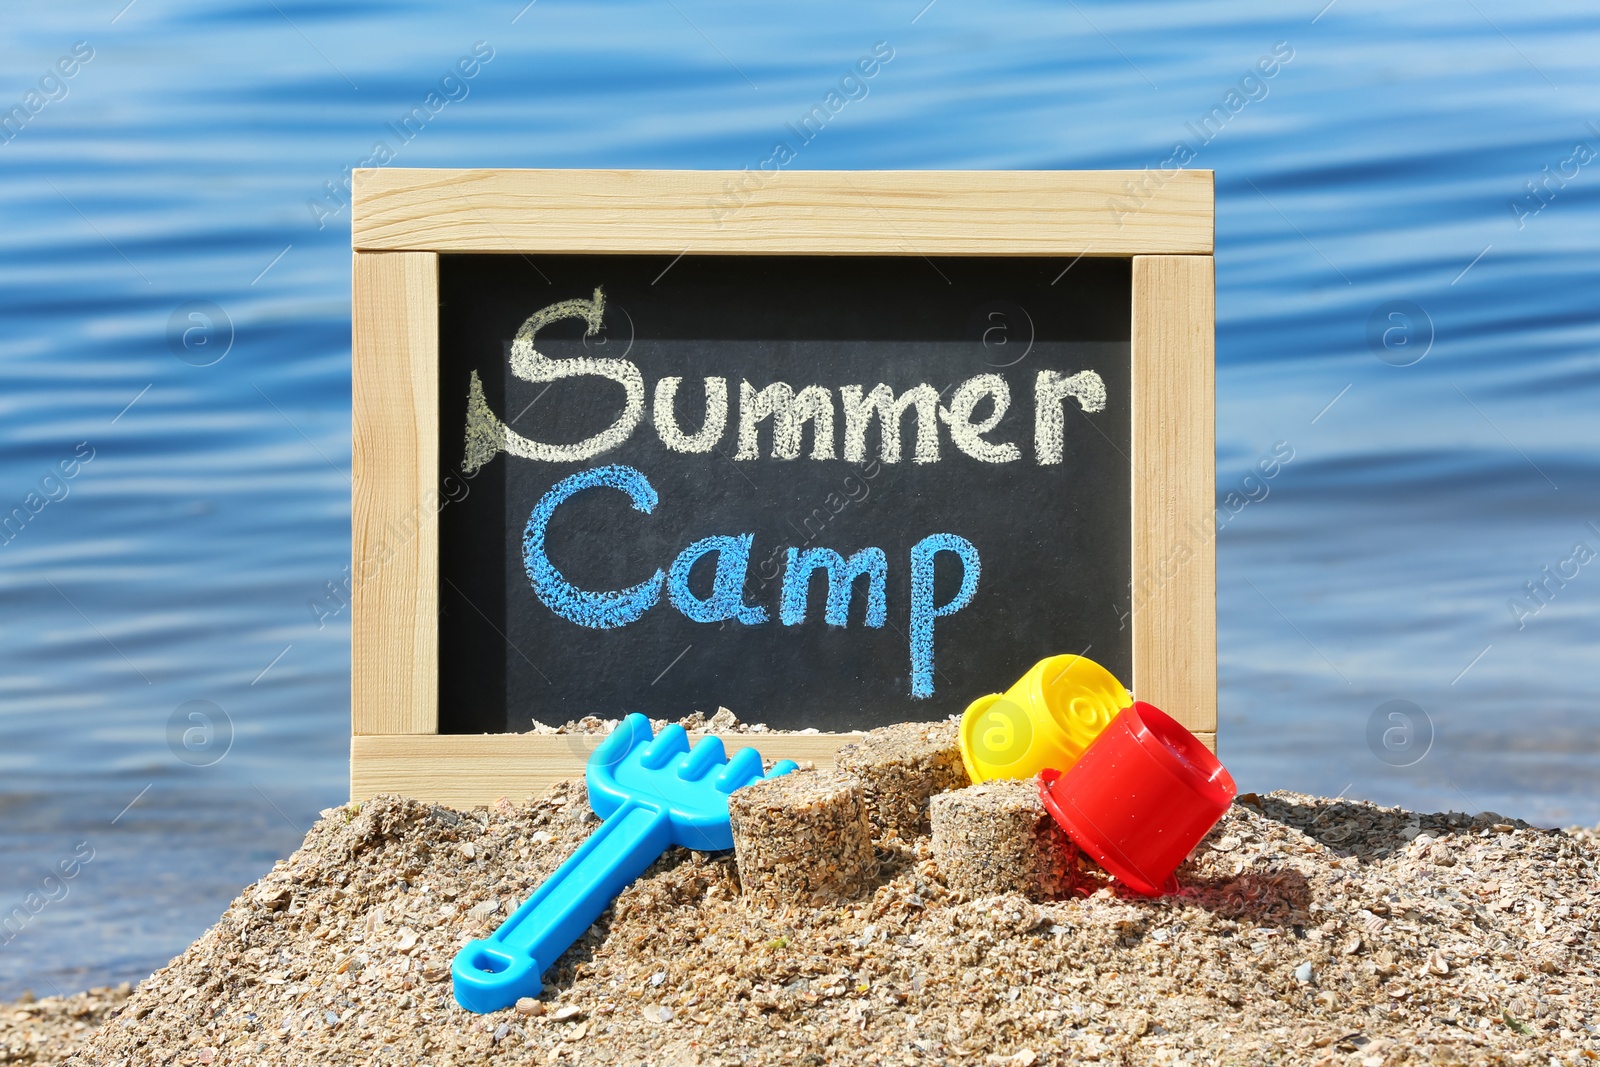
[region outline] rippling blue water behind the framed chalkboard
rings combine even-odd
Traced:
[[[475,42],[398,165],[754,166],[875,42],[794,166],[1187,142],[1218,174],[1219,498],[1293,450],[1219,534],[1224,758],[1600,819],[1600,565],[1523,589],[1600,550],[1590,5],[125,2],[0,37],[6,109],[93,50],[0,144],[0,510],[40,493],[0,549],[0,917],[59,897],[0,934],[0,997],[142,977],[346,793],[349,627],[307,600],[349,560],[349,218],[307,202]]]

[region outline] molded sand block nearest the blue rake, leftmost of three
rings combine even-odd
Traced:
[[[861,782],[794,771],[728,798],[739,886],[778,904],[821,905],[861,896],[877,881]]]

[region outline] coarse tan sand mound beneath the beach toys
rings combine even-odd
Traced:
[[[74,1064],[1589,1062],[1594,841],[1499,816],[1245,797],[1123,899],[962,899],[928,841],[854,905],[760,910],[674,849],[546,974],[454,1005],[456,947],[594,827],[582,785],[458,813],[381,797],[150,976]],[[26,1062],[26,1061],[24,1061]]]

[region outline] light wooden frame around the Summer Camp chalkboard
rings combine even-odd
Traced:
[[[360,170],[352,195],[350,797],[470,806],[598,739],[438,733],[438,254],[1133,259],[1133,693],[1216,747],[1211,171]],[[858,734],[770,734],[827,763]]]

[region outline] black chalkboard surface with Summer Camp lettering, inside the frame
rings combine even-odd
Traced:
[[[1128,259],[438,262],[440,733],[1131,678]]]

